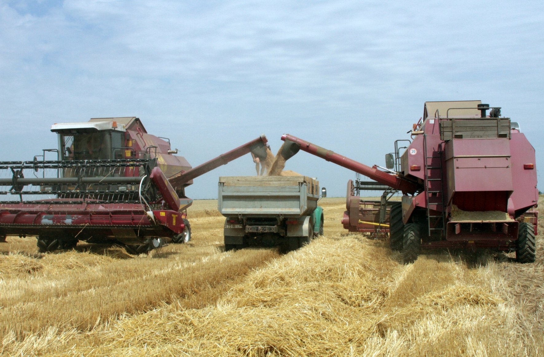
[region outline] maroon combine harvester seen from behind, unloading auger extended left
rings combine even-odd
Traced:
[[[413,141],[397,160],[386,155],[387,168],[289,134],[282,156],[307,151],[402,192],[401,203],[390,202],[389,224],[391,248],[405,262],[421,248],[515,251],[518,262],[534,262],[535,150],[518,124],[480,101],[426,102],[410,132]]]

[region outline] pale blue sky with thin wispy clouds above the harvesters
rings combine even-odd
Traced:
[[[425,101],[481,100],[540,168],[543,97],[542,1],[0,0],[0,161],[56,147],[54,123],[137,116],[193,167],[263,133],[385,166]],[[306,152],[286,169],[329,196],[355,179]],[[186,194],[254,174],[248,154]]]

